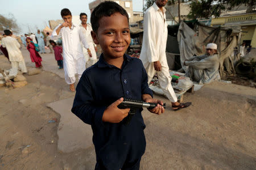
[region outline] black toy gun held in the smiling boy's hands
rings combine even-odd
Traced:
[[[137,109],[139,108],[148,108],[152,109],[156,107],[157,103],[147,103],[142,100],[133,100],[133,99],[123,99],[122,103],[118,105],[119,109],[126,109],[130,108],[130,112],[128,113],[128,116],[126,116],[122,122],[125,125],[128,125],[131,121],[131,118],[134,116],[134,114],[137,112]],[[166,104],[163,104],[164,109],[166,108]]]

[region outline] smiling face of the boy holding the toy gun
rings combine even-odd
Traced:
[[[131,42],[126,16],[118,12],[111,16],[103,16],[99,20],[99,25],[97,33],[92,31],[92,37],[95,44],[101,45],[104,57],[123,57]]]

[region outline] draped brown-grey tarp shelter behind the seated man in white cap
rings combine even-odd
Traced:
[[[173,46],[172,44],[176,45],[177,42],[179,43],[180,64],[184,70],[187,69],[183,65],[185,59],[204,54],[205,46],[214,42],[218,45],[220,54],[221,78],[235,73],[234,64],[240,56],[234,55],[234,48],[237,47],[241,36],[240,26],[215,28],[193,20],[192,22],[181,22],[180,25],[169,26],[168,35],[172,39],[168,38],[169,40],[167,40],[167,52],[176,54],[176,48],[174,49],[171,46]]]

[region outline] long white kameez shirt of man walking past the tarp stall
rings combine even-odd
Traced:
[[[166,8],[163,12],[154,3],[144,14],[144,33],[141,56],[144,67],[150,63],[160,61],[162,66],[167,66],[166,42],[168,36],[166,23]]]

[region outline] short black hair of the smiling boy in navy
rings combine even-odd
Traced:
[[[92,23],[93,31],[97,32],[98,27],[100,26],[98,22],[103,16],[111,16],[116,12],[119,12],[121,15],[126,16],[129,23],[129,15],[123,7],[118,5],[118,3],[115,3],[113,1],[105,1],[100,3],[100,5],[98,5],[93,10],[92,15],[90,16],[90,23]]]

